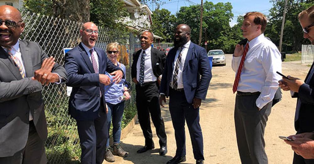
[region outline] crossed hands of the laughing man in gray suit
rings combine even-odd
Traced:
[[[48,85],[49,83],[58,82],[60,80],[59,76],[57,74],[51,73],[55,63],[55,58],[52,56],[44,59],[44,61],[41,63],[41,68],[34,72],[32,79],[37,80],[41,83],[41,85]]]

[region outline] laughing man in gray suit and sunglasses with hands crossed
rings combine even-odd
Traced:
[[[0,6],[0,163],[46,163],[42,86],[66,81],[65,69],[38,43],[19,40],[19,11]]]

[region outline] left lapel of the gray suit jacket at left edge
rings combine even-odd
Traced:
[[[22,79],[22,75],[19,72],[19,69],[15,66],[13,60],[9,57],[9,54],[4,51],[4,49],[0,46],[0,61],[2,61],[14,77],[18,80]]]

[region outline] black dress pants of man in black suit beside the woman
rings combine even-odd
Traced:
[[[159,90],[156,82],[144,83],[143,86],[136,85],[136,108],[138,121],[142,128],[146,146],[153,146],[153,134],[150,127],[149,113],[156,133],[159,138],[160,147],[167,145],[164,119],[161,117],[159,105]]]

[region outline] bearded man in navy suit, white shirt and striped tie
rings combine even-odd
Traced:
[[[174,48],[167,56],[160,85],[159,103],[162,107],[169,96],[169,110],[176,137],[176,155],[167,162],[186,161],[185,120],[190,132],[196,163],[203,163],[203,135],[199,124],[199,107],[205,100],[212,78],[206,50],[190,41],[191,28],[180,24],[176,27]]]

